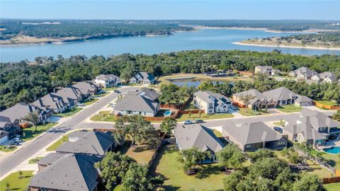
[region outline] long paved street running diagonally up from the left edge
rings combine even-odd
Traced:
[[[127,91],[135,91],[136,89],[137,87],[127,86],[120,88],[120,91],[122,93],[126,93]],[[73,117],[69,117],[68,120],[55,127],[55,129],[51,129],[49,132],[47,132],[40,138],[35,139],[35,141],[31,141],[30,143],[26,144],[25,146],[23,146],[22,149],[16,151],[16,153],[13,153],[10,156],[6,156],[3,159],[1,159],[0,177],[8,173],[13,168],[16,168],[16,166],[23,163],[23,161],[26,161],[27,158],[30,158],[37,154],[38,151],[43,149],[48,144],[59,139],[65,132],[69,132],[72,129],[84,128],[83,121],[86,120],[86,118],[90,117],[95,112],[98,112],[98,110],[101,110],[101,108],[111,103],[111,101],[117,98],[117,96],[118,96],[117,93],[111,93],[110,95],[102,98],[101,100],[98,100],[98,102],[94,103],[89,108],[81,110],[81,112],[77,113]],[[86,127],[88,126],[86,125]]]

